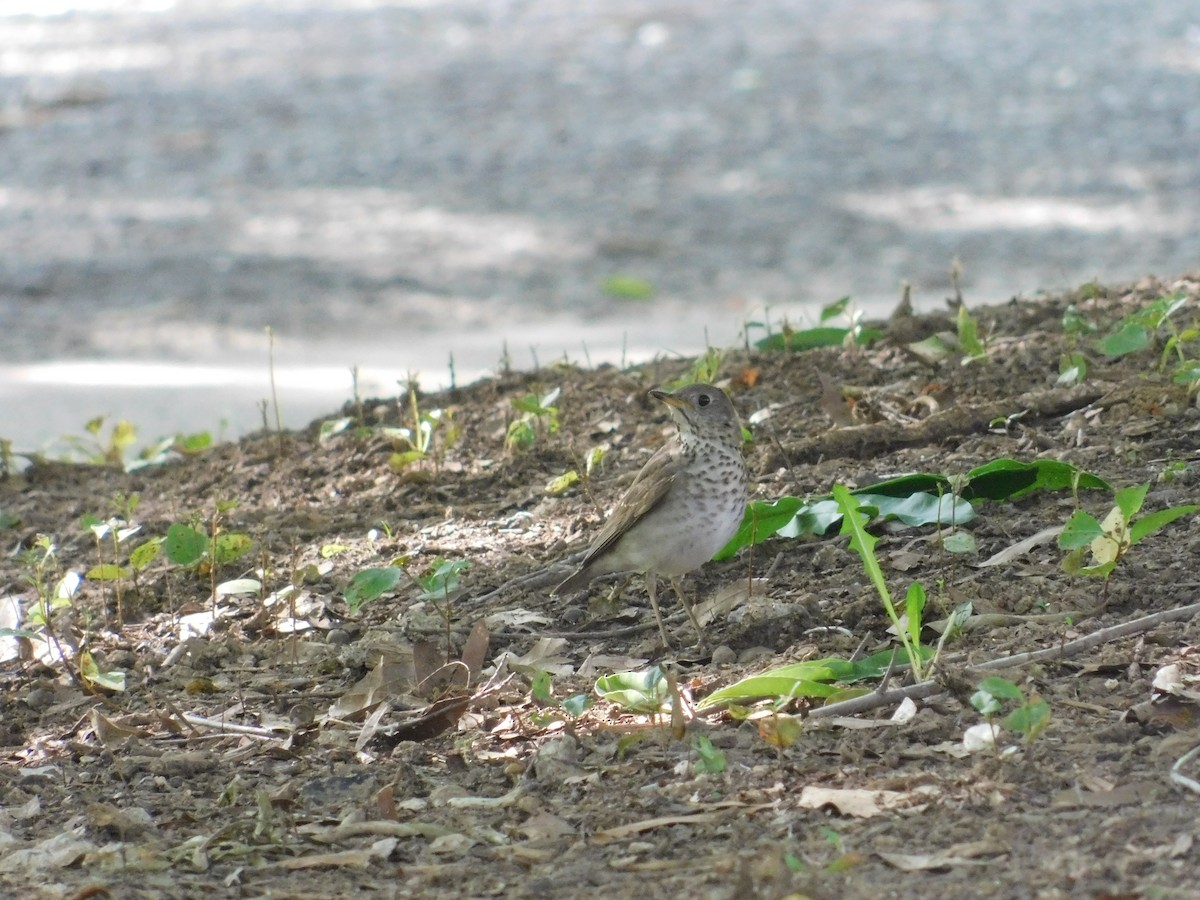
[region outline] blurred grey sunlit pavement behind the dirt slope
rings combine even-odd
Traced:
[[[0,0],[0,437],[1195,270],[1198,101],[1177,0]]]

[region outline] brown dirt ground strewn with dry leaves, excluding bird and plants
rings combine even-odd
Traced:
[[[1171,292],[1190,298],[1176,316],[1190,323],[1195,278],[976,310],[988,356],[970,365],[923,362],[898,340],[953,332],[948,316],[896,322],[868,349],[730,350],[719,379],[754,436],[755,497],[1012,457],[1063,460],[1115,487],[1148,482],[1146,511],[1188,503],[1200,413],[1159,371],[1162,343],[1106,359],[1084,338],[1086,380],[1055,384],[1072,349],[1068,304],[1108,328]],[[605,700],[572,716],[534,697],[532,670],[551,673],[562,700],[673,660],[679,690],[698,701],[786,662],[890,646],[836,534],[774,538],[691,576],[702,606],[725,601],[706,625],[710,652],[688,648],[672,601],[676,647],[664,654],[641,580],[614,602],[602,584],[592,602],[548,595],[670,433],[646,390],[690,370],[676,359],[548,367],[420,395],[420,409],[452,413],[458,437],[442,443],[444,425],[431,458],[400,472],[378,427],[322,438],[314,422],[132,473],[54,462],[10,473],[0,596],[26,608],[37,535],[56,547],[43,583],[85,574],[110,557],[80,520],[114,515],[120,496],[139,496],[142,530],[118,562],[173,524],[211,528],[232,502],[220,528],[253,547],[215,572],[150,562],[136,586],[121,582],[120,611],[112,582],[82,582],[53,630],[101,671],[125,672],[121,692],[82,690],[29,648],[0,662],[0,883],[80,898],[1196,896],[1200,797],[1170,779],[1200,740],[1195,704],[1150,703],[1162,667],[1177,665],[1186,688],[1200,668],[1200,624],[1165,616],[1196,600],[1195,516],[1134,547],[1105,592],[1066,574],[1052,539],[982,565],[1064,522],[1070,491],[979,506],[973,554],[943,550],[932,527],[872,527],[894,594],[919,581],[928,619],[965,600],[976,614],[948,642],[941,692],[908,719],[892,720],[896,702],[822,718],[816,701],[794,701],[785,709],[799,734],[775,748],[726,710],[680,733],[684,722]],[[511,401],[554,389],[559,427],[534,422],[529,446],[506,448]],[[366,401],[328,419],[402,425],[409,409],[407,397]],[[607,454],[589,479],[547,491],[596,445]],[[1112,505],[1103,491],[1080,502],[1097,517]],[[448,616],[408,582],[356,612],[344,599],[364,569],[426,575],[438,558],[470,563]],[[215,604],[214,584],[244,577],[269,596]],[[288,584],[298,589],[280,596]],[[1012,751],[962,749],[980,720],[966,702],[982,677],[971,666],[1156,613],[1159,624],[1126,638],[1004,670],[1046,701],[1050,725],[1028,745],[1006,733]],[[439,670],[448,658],[462,664]],[[893,673],[889,689],[904,679]],[[724,770],[704,770],[701,737]],[[1181,772],[1198,776],[1195,763]]]

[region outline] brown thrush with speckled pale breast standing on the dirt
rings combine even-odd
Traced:
[[[728,544],[746,509],[742,426],[720,388],[690,384],[652,390],[666,404],[678,433],[649,458],[592,541],[578,571],[552,594],[580,590],[601,575],[643,572],[662,643],[658,578],[671,582],[701,643],[704,634],[679,581]]]

